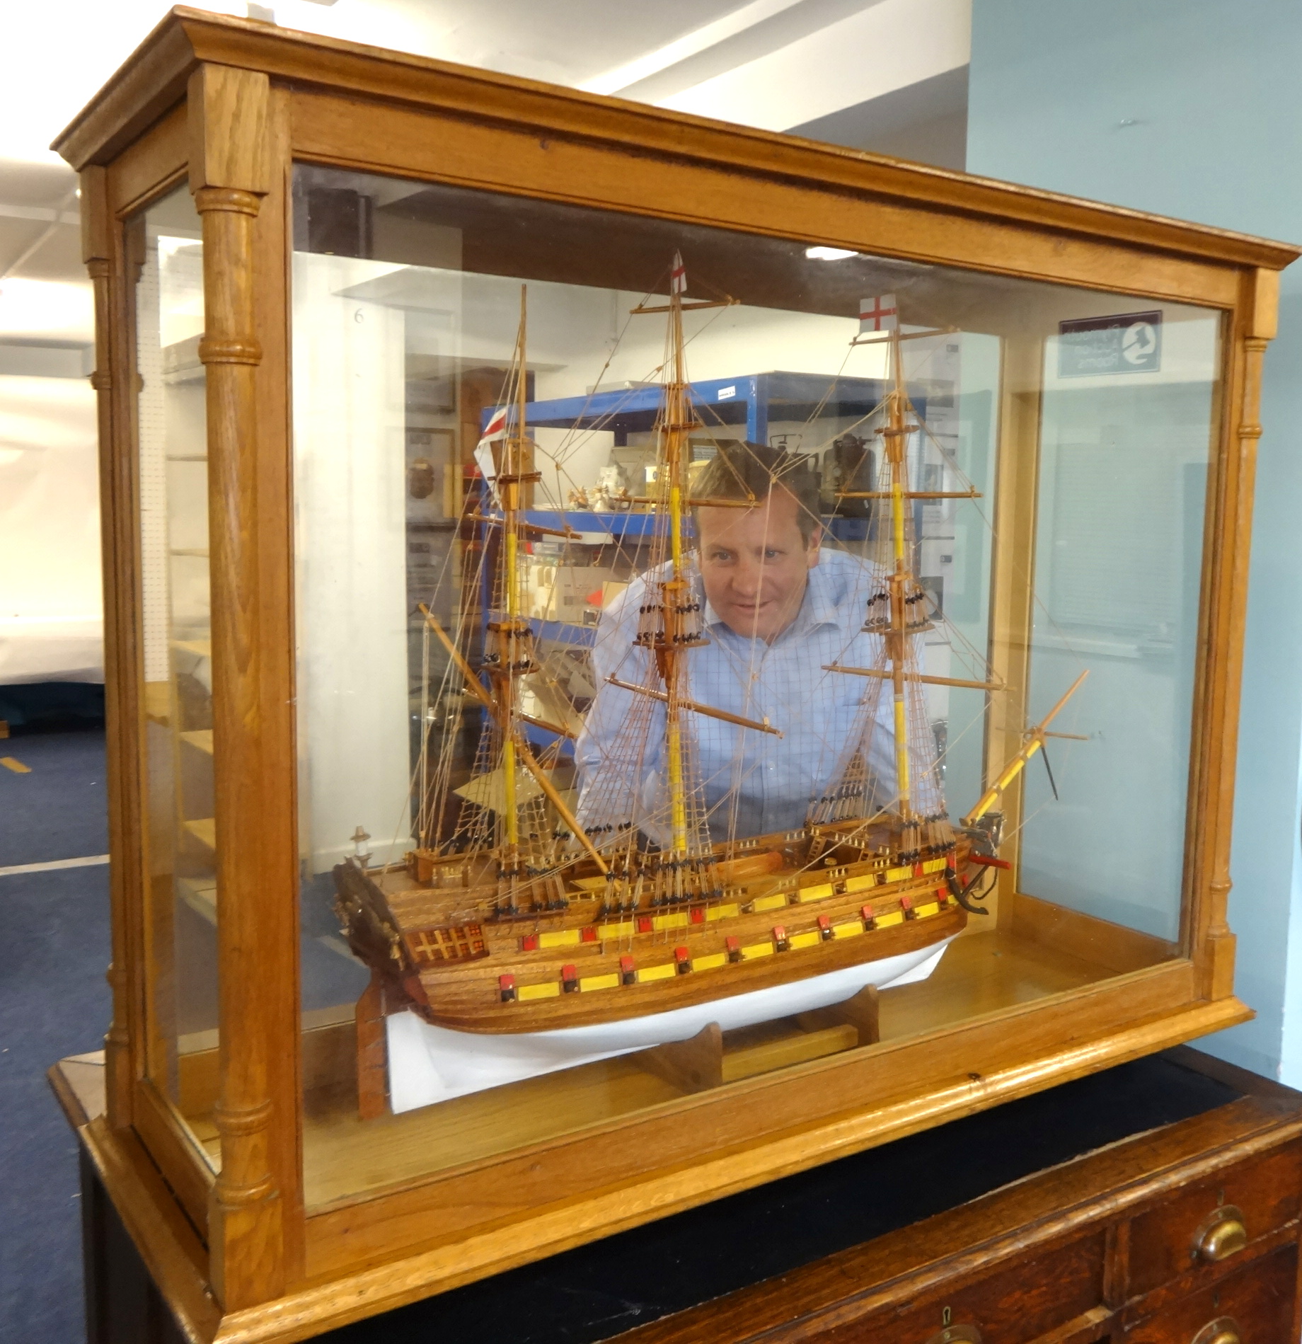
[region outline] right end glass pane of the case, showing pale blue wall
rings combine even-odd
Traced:
[[[1220,324],[1122,314],[1084,333],[1090,358],[1074,325],[1045,343],[1031,687],[1043,708],[1087,665],[1061,727],[1090,741],[1051,749],[1071,800],[1029,777],[1023,884],[1173,942]]]

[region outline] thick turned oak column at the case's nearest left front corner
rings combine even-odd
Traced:
[[[273,1176],[270,1005],[282,949],[263,910],[254,227],[270,187],[265,74],[202,66],[189,81],[189,184],[203,220],[212,730],[218,840],[222,1171],[208,1211],[214,1290],[238,1310],[284,1290]],[[284,1062],[281,1066],[284,1067]]]

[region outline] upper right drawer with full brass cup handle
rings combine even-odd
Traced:
[[[1141,1297],[1213,1257],[1199,1251],[1204,1234],[1219,1226],[1221,1257],[1232,1258],[1239,1245],[1225,1241],[1238,1211],[1248,1242],[1283,1227],[1298,1216],[1302,1198],[1302,1145],[1227,1167],[1215,1177],[1174,1192],[1152,1212],[1130,1222],[1130,1275],[1127,1300]],[[1228,1210],[1227,1210],[1227,1206]],[[1227,1210],[1221,1218],[1220,1211]],[[1208,1246],[1208,1250],[1212,1250]],[[1228,1255],[1225,1254],[1228,1253]]]

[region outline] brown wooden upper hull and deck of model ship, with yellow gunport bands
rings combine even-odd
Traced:
[[[726,886],[712,902],[611,909],[598,899],[605,879],[579,863],[567,905],[520,914],[501,913],[497,884],[476,880],[472,859],[447,856],[433,884],[411,876],[415,864],[344,866],[340,913],[359,956],[421,1016],[494,1034],[669,1012],[902,956],[965,927],[953,880],[969,863],[966,837],[904,864],[841,844],[821,868],[801,863],[808,844],[793,832],[734,848],[716,864]],[[367,937],[376,927],[383,939]]]

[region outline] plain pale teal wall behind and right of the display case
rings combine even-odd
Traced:
[[[973,0],[967,171],[1302,241],[1298,0]],[[1302,1085],[1302,263],[1266,362],[1229,922],[1255,1021],[1204,1048]]]

